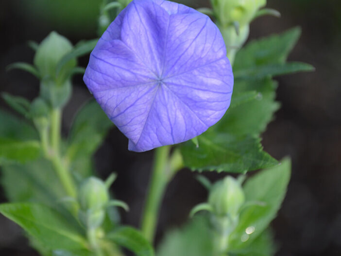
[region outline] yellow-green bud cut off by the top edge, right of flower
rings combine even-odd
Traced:
[[[247,25],[265,4],[266,0],[212,0],[213,10],[223,27],[233,22]]]

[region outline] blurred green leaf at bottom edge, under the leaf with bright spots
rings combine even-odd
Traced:
[[[243,249],[229,251],[231,256],[273,256],[276,252],[276,244],[273,241],[273,234],[266,229],[257,238],[244,242]]]

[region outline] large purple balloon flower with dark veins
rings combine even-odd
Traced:
[[[232,68],[206,15],[164,0],[133,0],[90,55],[84,81],[141,152],[187,141],[228,109]]]

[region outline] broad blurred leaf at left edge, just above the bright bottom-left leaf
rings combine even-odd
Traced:
[[[66,196],[51,163],[44,159],[25,165],[6,165],[1,169],[1,186],[12,202],[42,202],[61,208],[56,200]],[[13,185],[16,184],[16,185]]]

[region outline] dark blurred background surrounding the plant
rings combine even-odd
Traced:
[[[27,40],[40,42],[51,30],[73,43],[96,37],[100,0],[1,0],[0,91],[33,99],[38,81],[21,71],[5,72],[12,62],[32,63],[34,52]],[[207,0],[187,4],[209,6]],[[315,73],[278,77],[277,99],[282,108],[263,134],[265,150],[275,158],[290,155],[292,177],[277,219],[273,221],[280,245],[277,256],[341,255],[341,1],[269,0],[268,7],[282,18],[259,18],[251,25],[250,39],[301,26],[303,35],[290,60],[303,61]],[[87,57],[80,59],[86,66]],[[64,110],[67,134],[75,111],[91,97],[82,77],[74,79],[73,96]],[[0,100],[0,107],[8,107]],[[131,211],[124,223],[138,225],[145,198],[152,152],[126,150],[127,139],[113,129],[95,155],[99,176],[115,171],[112,189]],[[180,226],[191,207],[205,201],[206,192],[189,170],[180,171],[170,183],[163,202],[157,240],[170,227]],[[214,180],[218,174],[207,173]],[[15,185],[15,184],[14,184]],[[0,201],[6,201],[0,190]],[[0,255],[37,255],[28,247],[21,230],[0,216]]]

